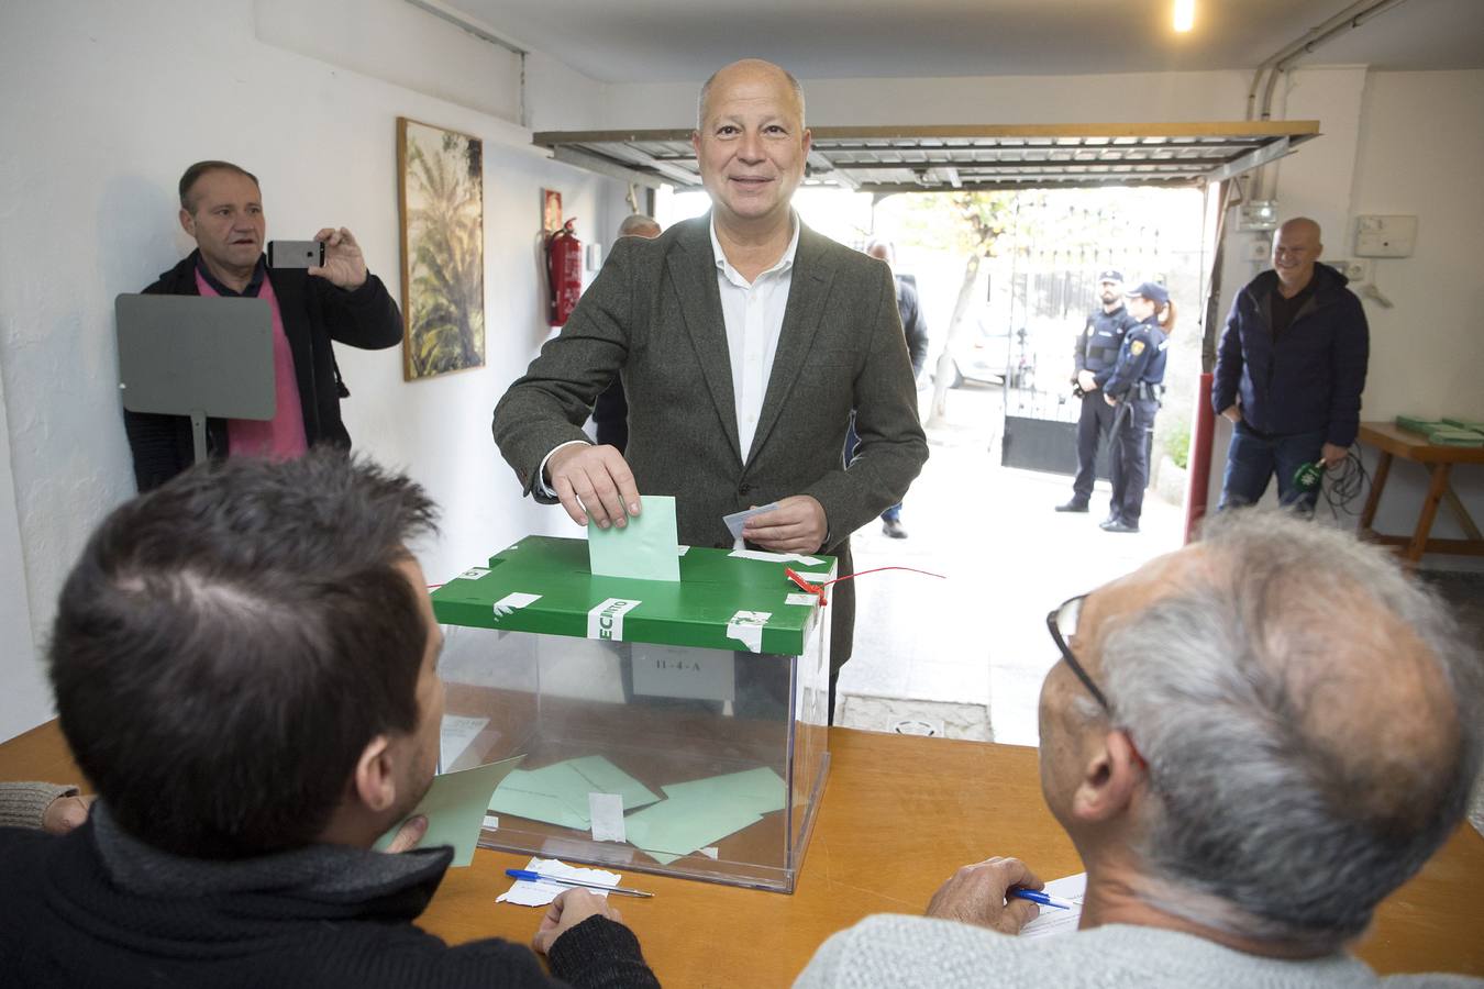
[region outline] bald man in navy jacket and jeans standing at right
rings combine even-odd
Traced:
[[[1254,504],[1278,474],[1278,500],[1313,512],[1318,488],[1296,474],[1340,464],[1361,420],[1370,328],[1346,277],[1319,264],[1319,224],[1290,219],[1273,234],[1273,267],[1232,302],[1217,350],[1211,405],[1235,430],[1221,507]]]

